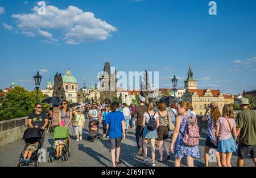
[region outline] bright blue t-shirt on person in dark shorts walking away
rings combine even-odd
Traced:
[[[105,124],[109,125],[109,138],[122,137],[122,121],[125,121],[125,116],[120,111],[110,112],[108,114]]]

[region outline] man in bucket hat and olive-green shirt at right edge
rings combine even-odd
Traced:
[[[238,113],[236,120],[237,135],[240,134],[237,166],[243,166],[243,159],[249,153],[256,166],[256,113],[249,108],[247,98],[241,98],[239,105],[242,112]]]

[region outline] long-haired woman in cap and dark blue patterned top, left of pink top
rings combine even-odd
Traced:
[[[210,113],[209,113],[210,110]],[[216,142],[216,122],[218,118],[221,117],[220,109],[218,109],[218,103],[210,103],[209,106],[205,104],[205,113],[202,121],[207,121],[207,138],[205,140],[204,147],[204,160],[205,167],[209,166],[209,150],[214,149],[217,159],[218,167],[221,167],[220,153],[217,151],[218,145]]]

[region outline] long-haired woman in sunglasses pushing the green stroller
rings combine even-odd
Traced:
[[[75,137],[75,132],[72,125],[72,112],[71,109],[69,109],[68,101],[64,100],[61,102],[60,111],[58,113],[59,115],[59,126],[65,126],[68,128],[68,143],[69,143],[69,152],[71,150],[70,148],[70,137]]]

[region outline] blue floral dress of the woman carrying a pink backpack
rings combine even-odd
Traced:
[[[180,115],[182,118],[180,125],[180,132],[175,142],[174,154],[175,158],[183,158],[184,156],[191,156],[192,158],[200,158],[198,146],[187,146],[183,143],[183,135],[187,130],[187,120],[185,116]]]

